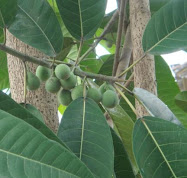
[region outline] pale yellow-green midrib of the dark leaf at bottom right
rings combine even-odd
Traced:
[[[146,130],[148,131],[149,135],[151,136],[153,142],[155,143],[156,147],[158,148],[158,150],[159,150],[161,156],[163,157],[164,161],[166,162],[166,164],[167,164],[169,170],[171,171],[172,175],[173,175],[175,178],[177,178],[177,176],[175,175],[173,169],[171,168],[171,166],[170,166],[170,164],[169,164],[167,158],[165,157],[165,155],[164,155],[164,153],[162,152],[162,150],[161,150],[159,144],[157,143],[155,137],[153,136],[151,130],[149,129],[148,125],[147,125],[146,122],[145,122],[144,120],[142,120],[142,119],[141,119],[141,122],[143,123],[143,125],[145,126],[145,128],[146,128]]]

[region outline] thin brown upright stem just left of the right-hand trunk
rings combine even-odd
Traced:
[[[118,67],[119,56],[120,56],[120,46],[121,46],[121,38],[122,38],[122,31],[123,31],[123,22],[124,22],[124,9],[126,7],[127,1],[122,0],[120,4],[120,12],[119,12],[119,22],[118,22],[118,32],[117,32],[117,40],[116,40],[116,52],[114,57],[114,65],[112,75],[116,75],[116,70]]]

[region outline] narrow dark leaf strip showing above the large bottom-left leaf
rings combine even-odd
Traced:
[[[24,120],[25,122],[29,123],[34,128],[36,128],[38,131],[40,131],[42,134],[44,134],[47,138],[54,140],[65,146],[65,144],[63,144],[61,140],[44,123],[42,123],[33,114],[31,114],[21,105],[17,104],[8,95],[6,95],[1,91],[0,91],[0,109]]]

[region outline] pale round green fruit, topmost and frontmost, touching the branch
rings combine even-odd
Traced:
[[[70,68],[65,64],[59,64],[55,68],[55,75],[58,79],[67,80],[70,77]]]

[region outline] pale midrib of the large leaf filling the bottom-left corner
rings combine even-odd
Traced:
[[[6,153],[7,155],[10,154],[10,155],[16,156],[16,157],[18,157],[18,158],[22,158],[22,159],[24,159],[24,160],[28,160],[28,161],[31,161],[31,162],[38,163],[38,164],[40,164],[40,165],[44,165],[44,166],[50,167],[50,168],[52,168],[52,169],[56,169],[57,171],[60,171],[60,172],[65,172],[65,173],[67,173],[67,174],[76,176],[76,175],[74,175],[74,174],[72,174],[72,173],[69,173],[69,172],[67,172],[67,171],[65,171],[65,170],[62,170],[62,169],[53,167],[53,166],[51,166],[51,165],[48,165],[48,164],[45,164],[45,163],[42,163],[42,162],[39,162],[39,161],[36,161],[36,160],[33,160],[33,159],[29,159],[29,158],[24,157],[24,156],[21,156],[21,155],[17,155],[17,154],[15,154],[15,153],[12,153],[12,152],[9,152],[9,151],[3,150],[3,149],[0,149],[0,152],[4,152],[4,153]]]

